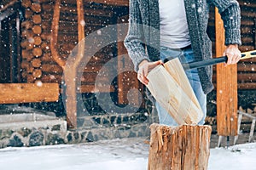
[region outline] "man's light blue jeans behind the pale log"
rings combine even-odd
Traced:
[[[160,47],[160,59],[174,59],[177,57],[181,63],[188,63],[195,60],[192,48],[172,49]],[[198,99],[199,104],[201,105],[204,116],[198,124],[203,125],[207,116],[207,94],[204,94],[202,90],[201,81],[197,69],[191,69],[185,72],[187,77],[189,78],[189,82],[194,90],[195,96]],[[163,107],[161,107],[157,101],[155,102],[155,107],[158,112],[160,124],[164,124],[167,126],[177,126],[177,122],[175,122],[172,116],[170,116],[168,112]]]

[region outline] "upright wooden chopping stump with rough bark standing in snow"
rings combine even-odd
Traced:
[[[212,127],[150,126],[148,170],[203,170],[210,156]]]

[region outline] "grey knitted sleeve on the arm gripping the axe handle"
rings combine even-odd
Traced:
[[[241,45],[241,11],[236,0],[212,0],[224,21],[225,45]]]

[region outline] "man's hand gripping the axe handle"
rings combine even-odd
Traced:
[[[224,51],[225,55],[228,57],[225,65],[234,65],[241,59],[241,52],[236,44],[230,44]]]

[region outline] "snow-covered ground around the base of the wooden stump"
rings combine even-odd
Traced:
[[[146,170],[144,139],[0,150],[0,170]],[[209,170],[256,170],[256,143],[211,149]]]

